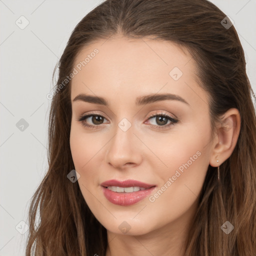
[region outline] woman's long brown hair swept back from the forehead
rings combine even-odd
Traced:
[[[232,154],[220,165],[220,183],[216,167],[208,166],[185,256],[255,255],[253,91],[237,32],[233,25],[224,27],[225,17],[207,0],[105,0],[76,25],[58,63],[49,114],[49,167],[30,203],[26,256],[105,255],[106,229],[88,208],[78,183],[67,178],[74,169],[69,146],[71,82],[58,85],[72,72],[83,46],[116,34],[168,40],[187,48],[196,61],[199,85],[210,96],[213,130],[221,114],[231,107],[239,110],[240,133]],[[220,228],[225,221],[234,226],[229,234]]]

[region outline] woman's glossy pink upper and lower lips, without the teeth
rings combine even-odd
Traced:
[[[155,185],[146,184],[137,180],[127,179],[124,181],[118,181],[115,179],[107,180],[100,184],[103,189],[103,194],[110,202],[127,206],[134,204],[143,198],[145,198],[147,195],[149,195],[152,190],[155,189]],[[139,190],[135,192],[114,192],[106,188],[106,186],[121,186],[121,187],[130,187],[130,186],[139,186],[144,187],[144,190]]]

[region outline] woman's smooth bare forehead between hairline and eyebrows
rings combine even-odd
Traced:
[[[170,41],[126,37],[98,40],[79,51],[73,67],[77,74],[71,80],[72,99],[78,93],[121,96],[122,92],[134,98],[135,94],[157,91],[182,91],[189,97],[191,89],[200,90],[191,55]]]

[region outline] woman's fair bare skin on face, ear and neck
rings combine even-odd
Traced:
[[[208,95],[196,82],[195,62],[172,42],[121,35],[98,40],[79,52],[74,67],[94,48],[99,52],[72,78],[70,97],[97,95],[109,106],[72,101],[70,149],[82,195],[107,229],[106,255],[181,256],[207,167],[231,155],[240,129],[239,112],[230,108],[211,138]],[[177,80],[169,75],[175,66],[183,73]],[[167,92],[188,104],[162,100],[135,105],[138,96]],[[91,117],[84,121],[96,128],[78,121],[91,111],[104,117],[101,124]],[[161,112],[178,122],[157,129],[161,123],[148,116]],[[125,132],[118,127],[123,118],[131,124]],[[198,151],[200,156],[153,202],[147,196],[133,205],[115,205],[102,193],[103,181],[135,179],[155,184],[152,195]],[[118,228],[123,221],[130,226],[126,233]]]

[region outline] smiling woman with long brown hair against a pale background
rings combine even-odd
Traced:
[[[255,255],[251,93],[214,4],[102,2],[59,61],[26,255]]]

